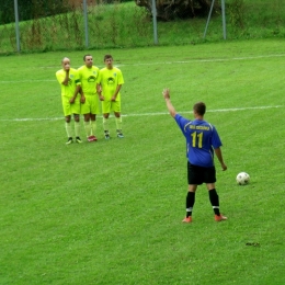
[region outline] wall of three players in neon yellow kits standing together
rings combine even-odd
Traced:
[[[99,69],[93,66],[91,55],[83,56],[80,68],[70,66],[70,59],[61,59],[61,69],[56,72],[60,84],[61,102],[65,115],[67,145],[75,141],[82,144],[80,138],[80,115],[83,115],[83,124],[87,140],[96,141],[96,116],[103,114],[103,129],[105,139],[111,138],[109,130],[109,117],[113,113],[115,117],[116,137],[124,138],[121,116],[121,88],[124,84],[122,71],[113,66],[112,55],[104,56],[105,67]],[[71,118],[75,127],[72,130]]]

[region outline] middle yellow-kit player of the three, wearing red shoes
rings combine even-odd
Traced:
[[[93,66],[91,55],[84,55],[84,65],[78,69],[81,82],[81,114],[84,116],[84,128],[88,141],[96,141],[96,115],[100,114],[98,98],[99,68]]]

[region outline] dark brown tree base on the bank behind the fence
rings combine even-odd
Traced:
[[[151,0],[135,0],[139,7],[145,7],[151,13]],[[156,0],[158,20],[173,20],[207,15],[212,0]],[[215,1],[215,10],[219,10],[218,1]]]

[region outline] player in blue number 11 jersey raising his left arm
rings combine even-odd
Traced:
[[[184,118],[176,113],[170,101],[170,91],[162,91],[170,115],[175,119],[180,129],[186,139],[186,156],[187,156],[187,181],[189,192],[186,195],[186,217],[183,223],[192,221],[192,210],[195,204],[195,192],[197,186],[206,183],[208,189],[209,202],[213,206],[215,220],[226,220],[227,217],[219,213],[219,196],[217,194],[216,169],[214,164],[214,152],[216,153],[223,171],[227,170],[221,155],[221,141],[216,128],[204,121],[206,105],[198,102],[193,106],[193,121]]]

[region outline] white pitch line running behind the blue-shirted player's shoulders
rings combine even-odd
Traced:
[[[219,112],[238,112],[238,111],[247,111],[247,110],[267,110],[267,109],[281,109],[284,105],[276,106],[254,106],[254,107],[232,107],[232,109],[217,109],[217,110],[208,110],[207,113],[219,113]],[[180,114],[192,114],[192,111],[182,111],[178,112]],[[139,117],[139,116],[161,116],[168,115],[168,112],[157,112],[157,113],[140,113],[140,114],[122,114],[123,117]],[[101,117],[101,116],[99,116]],[[62,117],[38,117],[38,118],[0,118],[0,122],[38,122],[38,121],[62,121]]]

